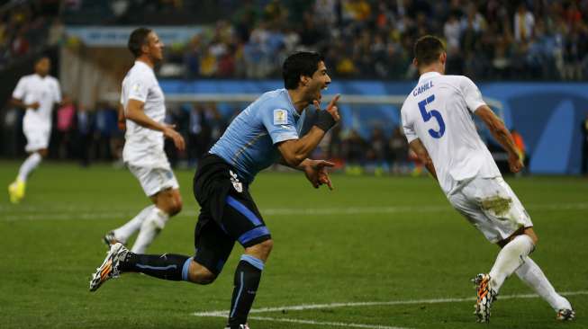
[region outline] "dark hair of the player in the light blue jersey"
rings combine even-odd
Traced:
[[[321,54],[310,51],[300,51],[285,58],[282,66],[285,89],[298,88],[300,76],[312,76],[321,61],[324,61]]]

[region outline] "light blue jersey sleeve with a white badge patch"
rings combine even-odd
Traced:
[[[267,129],[267,134],[272,138],[272,143],[277,144],[285,140],[298,139],[296,122],[291,111],[284,109],[267,109],[262,111],[261,121]]]

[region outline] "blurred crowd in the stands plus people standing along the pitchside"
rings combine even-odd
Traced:
[[[0,68],[58,44],[64,40],[64,24],[80,23],[80,17],[86,23],[100,19],[105,25],[132,25],[136,17],[151,17],[151,24],[165,25],[173,24],[169,17],[174,17],[204,26],[186,44],[168,45],[166,50],[166,65],[180,67],[177,72],[185,78],[279,78],[288,54],[311,49],[325,55],[334,78],[414,79],[412,44],[427,33],[446,41],[448,73],[475,80],[588,77],[587,0],[222,0],[198,4],[145,0],[141,4],[40,0],[4,6]],[[54,117],[52,157],[79,158],[82,164],[120,158],[123,135],[116,127],[112,105],[99,103],[86,109],[70,101]],[[170,161],[194,165],[230,120],[214,104],[172,109],[167,121],[177,124],[189,147],[185,154],[170,150]],[[362,135],[344,128],[331,134],[321,152],[351,164],[354,171],[357,167],[402,173],[410,163],[400,129],[393,133],[376,128]]]

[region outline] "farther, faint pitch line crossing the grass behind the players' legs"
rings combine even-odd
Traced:
[[[5,208],[9,209],[9,208]],[[9,210],[18,209],[14,207]],[[529,210],[583,210],[588,209],[588,203],[554,203],[554,204],[531,204],[527,206]],[[15,220],[70,220],[70,219],[118,219],[130,218],[136,215],[137,210],[121,210],[100,212],[99,210],[65,210],[62,212],[50,212],[45,209],[38,209],[39,212],[31,215],[8,215],[5,218],[0,218],[5,221]],[[261,210],[264,216],[317,216],[317,215],[361,215],[361,214],[393,214],[403,212],[439,212],[439,211],[454,211],[449,205],[447,206],[398,206],[398,207],[342,207],[342,208],[311,208],[311,209],[297,209],[297,208],[269,208]],[[185,210],[180,213],[178,218],[194,218],[198,212],[195,210]]]

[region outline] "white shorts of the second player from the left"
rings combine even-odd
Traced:
[[[148,197],[169,188],[176,190],[180,186],[170,167],[148,168],[131,164],[127,164],[127,166],[131,173],[137,177],[140,186]]]

